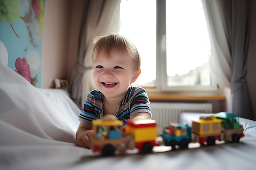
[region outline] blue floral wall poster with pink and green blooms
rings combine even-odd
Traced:
[[[0,0],[0,62],[41,86],[45,0]]]

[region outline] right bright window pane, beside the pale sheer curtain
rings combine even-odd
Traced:
[[[166,55],[168,86],[211,86],[201,0],[166,0]]]

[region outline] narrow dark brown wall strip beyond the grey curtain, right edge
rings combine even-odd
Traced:
[[[247,84],[249,88],[250,97],[252,100],[252,106],[254,110],[254,115],[256,118],[256,1],[252,1],[253,11],[252,11],[252,25],[251,25],[251,36],[250,36],[250,45],[247,58]]]

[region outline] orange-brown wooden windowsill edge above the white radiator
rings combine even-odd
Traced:
[[[225,100],[226,97],[223,95],[148,95],[151,101],[162,101],[162,100]]]

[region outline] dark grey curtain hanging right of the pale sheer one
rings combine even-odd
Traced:
[[[231,110],[255,119],[246,81],[246,61],[252,20],[252,0],[222,0],[231,53]]]

